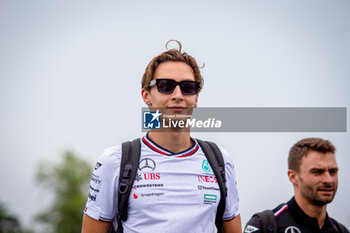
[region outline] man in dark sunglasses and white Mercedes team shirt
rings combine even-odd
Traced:
[[[175,116],[197,107],[202,86],[196,60],[181,52],[179,43],[178,50],[167,50],[148,64],[141,94],[150,109],[161,108]],[[124,232],[214,232],[220,190],[190,132],[150,130],[140,140],[140,164],[129,197],[128,219],[122,222]],[[227,180],[223,229],[240,233],[233,163],[226,151],[221,152]],[[107,149],[100,157],[90,182],[82,233],[106,233],[113,222],[117,228],[120,158],[120,146]]]

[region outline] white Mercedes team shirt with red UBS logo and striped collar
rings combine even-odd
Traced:
[[[206,232],[215,228],[220,189],[213,170],[198,142],[172,153],[147,135],[141,140],[136,179],[129,197],[124,232]],[[227,199],[224,220],[239,214],[233,163],[220,147],[225,161]],[[108,148],[92,174],[85,214],[114,222],[118,205],[121,146]]]

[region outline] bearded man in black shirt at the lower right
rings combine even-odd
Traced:
[[[294,197],[273,210],[277,232],[349,232],[330,218],[326,210],[338,187],[334,153],[335,147],[321,138],[302,139],[290,149],[288,177],[294,187]],[[272,222],[263,224],[262,218],[254,215],[244,232],[273,232]]]

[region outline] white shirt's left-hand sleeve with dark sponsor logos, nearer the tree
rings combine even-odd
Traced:
[[[89,217],[112,222],[118,205],[121,146],[106,149],[93,170],[84,213]]]

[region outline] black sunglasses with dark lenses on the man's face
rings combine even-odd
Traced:
[[[157,86],[160,93],[171,94],[174,92],[177,85],[180,86],[181,92],[184,95],[195,95],[199,91],[200,82],[184,80],[181,82],[176,82],[172,79],[153,79],[149,83],[148,87]]]

